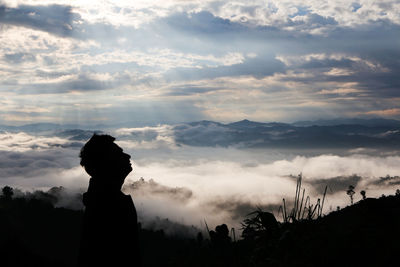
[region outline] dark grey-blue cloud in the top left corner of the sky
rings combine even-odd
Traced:
[[[79,15],[73,13],[70,6],[0,6],[1,23],[32,28],[62,37],[73,34],[73,21],[77,19]]]

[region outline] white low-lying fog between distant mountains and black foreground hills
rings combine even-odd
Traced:
[[[200,228],[204,220],[211,227],[227,223],[240,228],[244,216],[256,207],[281,218],[282,198],[293,200],[300,173],[312,203],[328,186],[324,213],[350,204],[349,185],[355,186],[355,201],[361,199],[361,190],[367,197],[379,197],[400,188],[396,150],[188,146],[176,143],[168,127],[151,128],[157,134],[150,137],[138,136],[149,129],[109,131],[132,156],[134,170],[123,190],[132,195],[145,225],[158,216]],[[79,166],[78,155],[86,138],[1,132],[0,186],[21,191],[63,186],[71,192],[63,198],[84,192],[89,177]],[[63,199],[58,205],[81,207],[79,199],[74,201]]]

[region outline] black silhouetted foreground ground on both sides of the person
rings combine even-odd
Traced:
[[[236,242],[225,226],[211,231],[211,239],[141,229],[143,266],[400,264],[400,196],[365,199],[315,220],[278,223],[261,211],[252,216]],[[43,199],[3,196],[0,266],[74,266],[81,218],[82,211],[54,208]]]

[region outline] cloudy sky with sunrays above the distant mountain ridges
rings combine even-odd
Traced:
[[[0,124],[400,119],[394,0],[0,1]]]

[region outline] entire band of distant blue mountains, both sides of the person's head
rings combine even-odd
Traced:
[[[126,126],[125,126],[126,127]],[[99,130],[110,127],[98,125]],[[295,123],[254,122],[242,120],[223,124],[198,121],[171,125],[171,135],[177,144],[206,147],[240,148],[400,148],[400,121],[387,119],[336,119]],[[79,125],[37,123],[23,126],[0,125],[0,131],[30,132],[85,141],[99,130]],[[135,141],[152,141],[157,129],[133,130],[121,136]],[[140,139],[138,139],[140,138]]]

